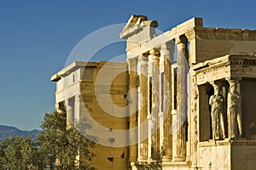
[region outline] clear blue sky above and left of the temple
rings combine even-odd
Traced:
[[[66,1],[0,0],[0,124],[39,128],[54,111],[55,82],[74,46],[104,26],[124,23],[131,14],[158,20],[167,31],[194,16],[211,27],[256,29],[254,1]],[[109,47],[101,60],[124,54]],[[104,56],[103,56],[104,55]]]

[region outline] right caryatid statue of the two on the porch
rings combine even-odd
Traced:
[[[229,138],[241,138],[242,118],[241,118],[241,94],[239,93],[238,80],[229,80],[230,92],[228,94],[228,122]]]

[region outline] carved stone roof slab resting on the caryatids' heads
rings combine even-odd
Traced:
[[[229,54],[192,65],[191,71],[197,85],[221,79],[256,78],[256,55]]]

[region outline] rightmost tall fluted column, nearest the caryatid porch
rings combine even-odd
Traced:
[[[188,47],[186,37],[177,38],[177,116],[176,132],[173,134],[172,161],[186,159],[186,111],[187,111],[187,74],[188,74]]]

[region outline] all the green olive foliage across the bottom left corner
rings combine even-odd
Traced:
[[[89,125],[84,121],[76,124],[85,131]],[[91,149],[95,143],[76,128],[67,128],[66,122],[65,113],[46,113],[37,140],[16,136],[3,139],[0,143],[0,169],[94,169],[90,167],[90,160],[94,156]]]

